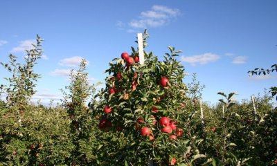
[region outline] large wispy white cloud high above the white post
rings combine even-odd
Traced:
[[[170,23],[172,18],[180,15],[179,9],[168,8],[167,6],[152,6],[151,10],[143,11],[139,19],[129,22],[132,28],[159,27]]]

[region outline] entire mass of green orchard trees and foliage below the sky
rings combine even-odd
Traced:
[[[148,37],[145,30],[144,47]],[[71,71],[62,106],[28,103],[39,77],[33,71],[42,53],[39,41],[27,50],[26,65],[15,64],[13,55],[2,64],[12,77],[1,86],[8,101],[0,100],[0,165],[277,165],[277,110],[269,94],[258,95],[254,104],[222,92],[214,107],[198,102],[204,86],[195,75],[184,84],[180,51],[172,46],[163,60],[144,52],[143,65],[114,59],[97,93],[83,60]],[[136,56],[132,47],[130,57]],[[162,117],[177,129],[163,132]],[[143,127],[149,136],[142,136]]]

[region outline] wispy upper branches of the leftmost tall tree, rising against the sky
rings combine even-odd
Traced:
[[[42,41],[43,39],[37,35],[37,44],[33,44],[33,49],[26,50],[25,64],[18,63],[15,55],[9,55],[8,64],[0,62],[4,68],[12,73],[12,77],[5,78],[9,85],[0,85],[1,92],[7,95],[8,106],[19,107],[19,110],[24,111],[24,106],[35,94],[35,82],[37,82],[39,75],[33,71],[33,68],[37,64],[37,59],[42,56]]]

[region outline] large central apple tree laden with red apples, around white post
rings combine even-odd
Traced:
[[[144,47],[148,37],[145,30]],[[194,114],[186,109],[186,74],[175,58],[181,51],[168,48],[163,60],[144,51],[144,64],[135,48],[122,53],[109,64],[105,89],[96,95],[98,127],[123,133],[129,144],[126,151],[117,151],[125,165],[175,165],[204,157],[197,150],[200,140],[186,126]]]

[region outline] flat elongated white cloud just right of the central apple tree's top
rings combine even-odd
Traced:
[[[202,55],[193,55],[193,56],[181,56],[182,62],[187,62],[193,66],[196,64],[208,64],[210,62],[215,62],[220,59],[219,55],[213,53],[204,53]]]

